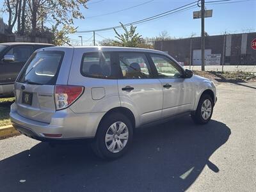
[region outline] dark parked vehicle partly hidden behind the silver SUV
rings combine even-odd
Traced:
[[[21,68],[36,49],[52,44],[3,43],[0,44],[0,97],[13,95],[13,84]]]

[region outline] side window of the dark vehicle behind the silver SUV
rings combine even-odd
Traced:
[[[15,58],[15,61],[12,63],[25,63],[28,58],[31,56],[31,54],[34,52],[33,46],[28,45],[19,45],[12,47],[10,51],[8,51],[5,55],[13,55]]]

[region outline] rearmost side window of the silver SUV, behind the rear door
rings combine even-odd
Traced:
[[[83,55],[81,74],[87,77],[112,79],[111,54],[109,52],[88,52]]]

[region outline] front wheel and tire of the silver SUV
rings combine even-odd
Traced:
[[[207,106],[211,103],[211,112]],[[203,109],[204,108],[204,109]],[[203,111],[204,110],[204,111]],[[195,114],[191,115],[196,124],[207,124],[211,120],[213,112],[213,101],[210,95],[204,94],[201,96]]]

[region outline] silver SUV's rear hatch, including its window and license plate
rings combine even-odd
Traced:
[[[54,89],[56,84],[67,84],[72,54],[73,49],[69,47],[49,47],[32,54],[15,82],[19,115],[51,122],[56,111]]]

